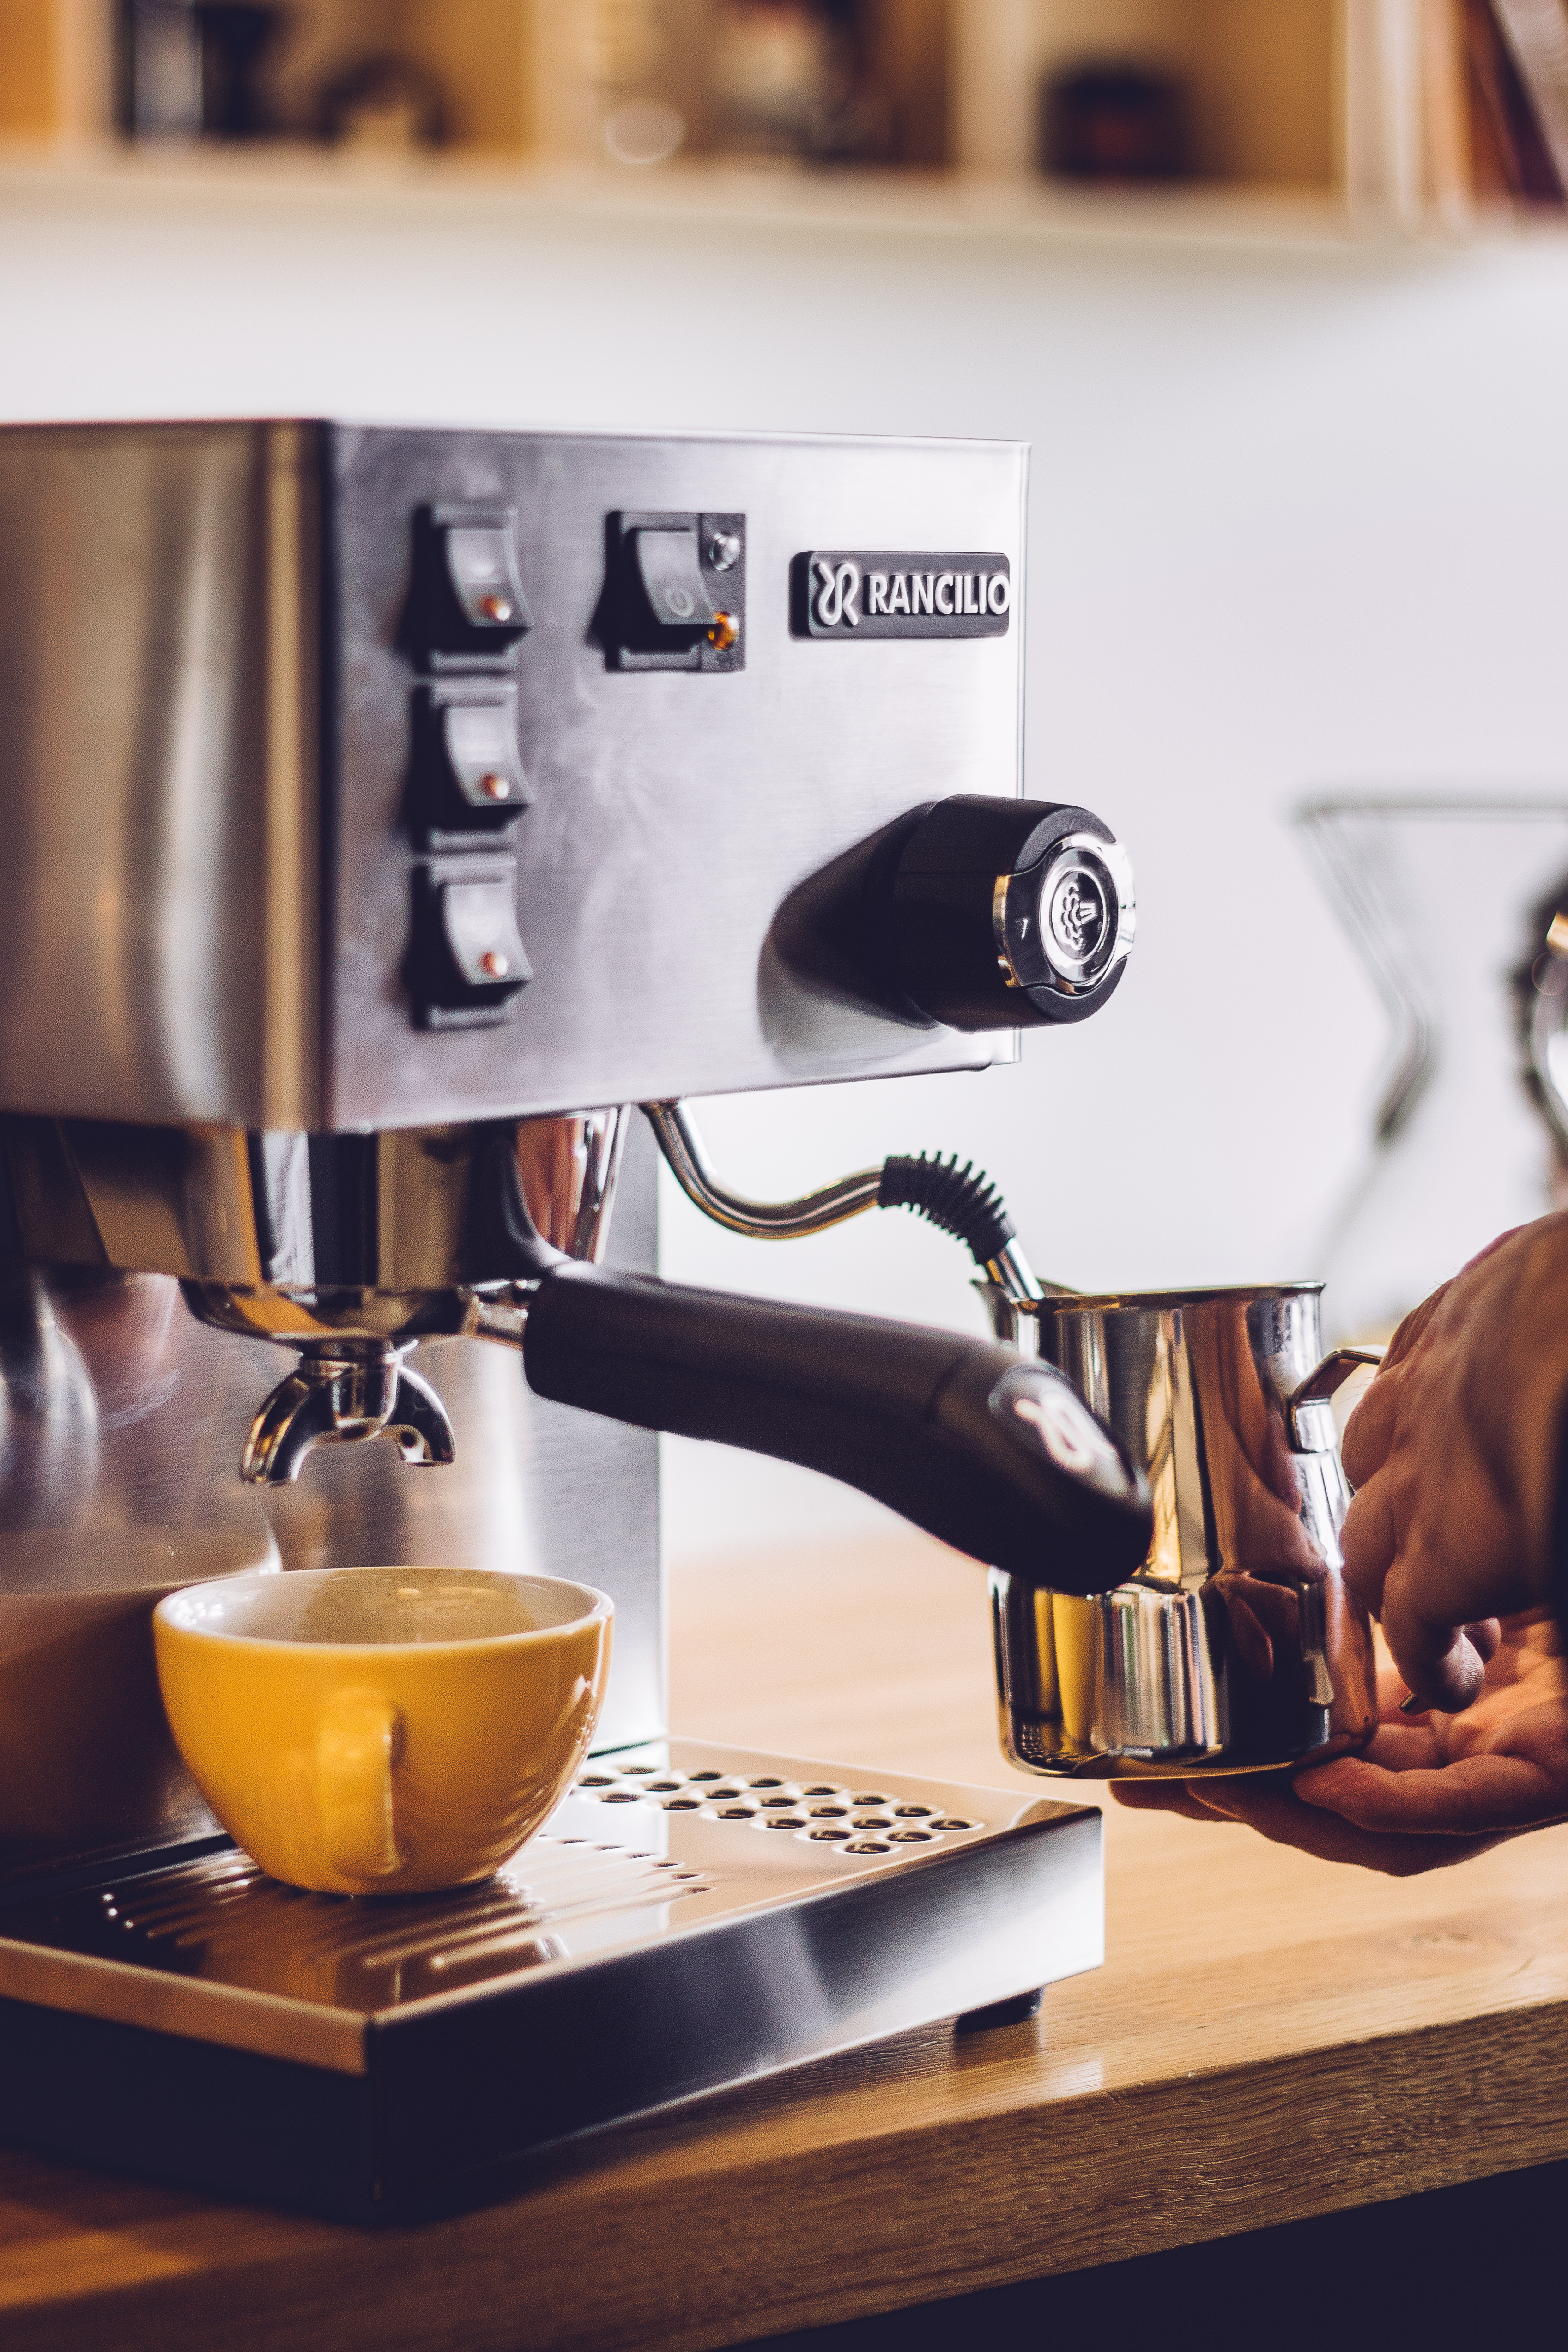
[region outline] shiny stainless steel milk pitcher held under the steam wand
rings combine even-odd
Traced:
[[[1001,1738],[1034,1771],[1248,1771],[1373,1729],[1366,1611],[1342,1581],[1349,1501],[1319,1284],[1046,1298],[1041,1355],[1147,1472],[1138,1576],[1077,1599],[992,1576]]]

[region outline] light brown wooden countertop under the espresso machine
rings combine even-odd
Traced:
[[[1039,1795],[980,1571],[677,1571],[675,1724]],[[1107,1806],[1105,1969],[350,2230],[0,2152],[7,2352],[717,2347],[1568,2157],[1568,1828],[1425,1877]]]

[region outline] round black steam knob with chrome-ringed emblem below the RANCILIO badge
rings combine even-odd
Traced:
[[[938,800],[884,840],[867,887],[884,976],[950,1028],[1086,1021],[1133,946],[1133,868],[1091,809]]]

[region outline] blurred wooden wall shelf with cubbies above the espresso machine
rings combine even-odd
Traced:
[[[110,139],[143,82],[115,0],[0,5],[0,179],[61,200],[127,191],[268,191],[329,202],[418,198],[491,212],[783,226],[1039,245],[1434,247],[1502,226],[1474,202],[1462,0],[863,0],[882,162],[738,165],[745,120],[724,94],[719,0],[289,0],[259,66],[263,120],[299,146]],[[205,35],[186,24],[148,106],[209,120]],[[731,21],[733,33],[733,21]],[[139,35],[141,38],[141,35]],[[165,35],[158,35],[160,40]],[[141,54],[141,52],[136,52]],[[148,52],[150,54],[150,52]],[[1166,188],[1044,181],[1039,94],[1084,59],[1164,73],[1180,92],[1187,167]],[[324,92],[393,59],[447,143],[306,146]],[[160,80],[162,75],[162,80]],[[169,80],[172,75],[172,80]],[[181,99],[183,92],[183,99]],[[183,106],[183,113],[181,113]],[[625,113],[663,113],[677,162],[607,162]],[[158,118],[165,120],[165,118]],[[411,122],[411,118],[409,118]],[[409,129],[404,122],[404,132]],[[360,122],[364,129],[364,122]],[[381,122],[371,136],[393,136]],[[26,162],[35,141],[35,162]],[[49,141],[59,158],[45,160]],[[752,136],[752,143],[755,136]],[[1559,214],[1561,219],[1561,214]]]

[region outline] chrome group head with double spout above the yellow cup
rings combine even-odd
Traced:
[[[242,1456],[268,1484],[322,1442],[383,1432],[404,1461],[454,1461],[402,1357],[428,1336],[515,1341],[505,1277],[597,1263],[623,1145],[623,1108],[378,1136],[0,1120],[33,1261],[179,1275],[214,1329],[301,1348]]]

